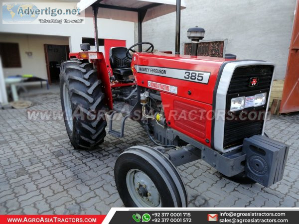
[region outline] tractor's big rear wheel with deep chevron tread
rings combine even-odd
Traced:
[[[76,149],[93,149],[104,141],[105,94],[97,70],[72,59],[60,67],[60,98],[69,139]]]

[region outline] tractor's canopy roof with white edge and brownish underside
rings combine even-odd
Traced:
[[[92,17],[92,4],[99,5],[98,18],[138,22],[138,12],[146,11],[145,22],[174,12],[176,0],[80,0],[77,6],[80,11],[85,9],[85,17]],[[184,8],[186,4],[181,0],[181,9]]]

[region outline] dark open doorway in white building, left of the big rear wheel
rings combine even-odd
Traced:
[[[69,45],[44,44],[48,82],[59,83],[60,64],[68,59]]]

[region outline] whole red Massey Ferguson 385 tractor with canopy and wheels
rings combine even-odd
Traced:
[[[84,0],[78,6],[94,18],[97,51],[82,44],[61,66],[61,102],[72,145],[98,147],[106,136],[105,116],[109,134],[123,137],[131,118],[156,145],[132,146],[116,161],[115,182],[126,207],[186,207],[175,167],[198,159],[227,177],[266,187],[282,179],[289,147],[264,132],[273,63],[231,54],[196,56],[205,33],[199,27],[187,31],[191,55],[180,54],[180,0]],[[139,43],[110,49],[112,74],[98,50],[98,11],[104,18],[138,20]],[[153,52],[153,44],[142,42],[142,22],[172,11],[175,54]],[[123,114],[120,131],[112,125],[116,113]]]

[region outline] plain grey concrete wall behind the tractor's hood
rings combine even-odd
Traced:
[[[181,47],[187,29],[206,31],[205,41],[224,40],[224,53],[238,59],[260,59],[276,63],[276,79],[284,79],[292,34],[296,0],[185,0],[181,11]],[[137,32],[137,26],[135,26]],[[135,35],[136,38],[136,35]],[[143,41],[158,50],[175,47],[175,13],[143,24]]]

